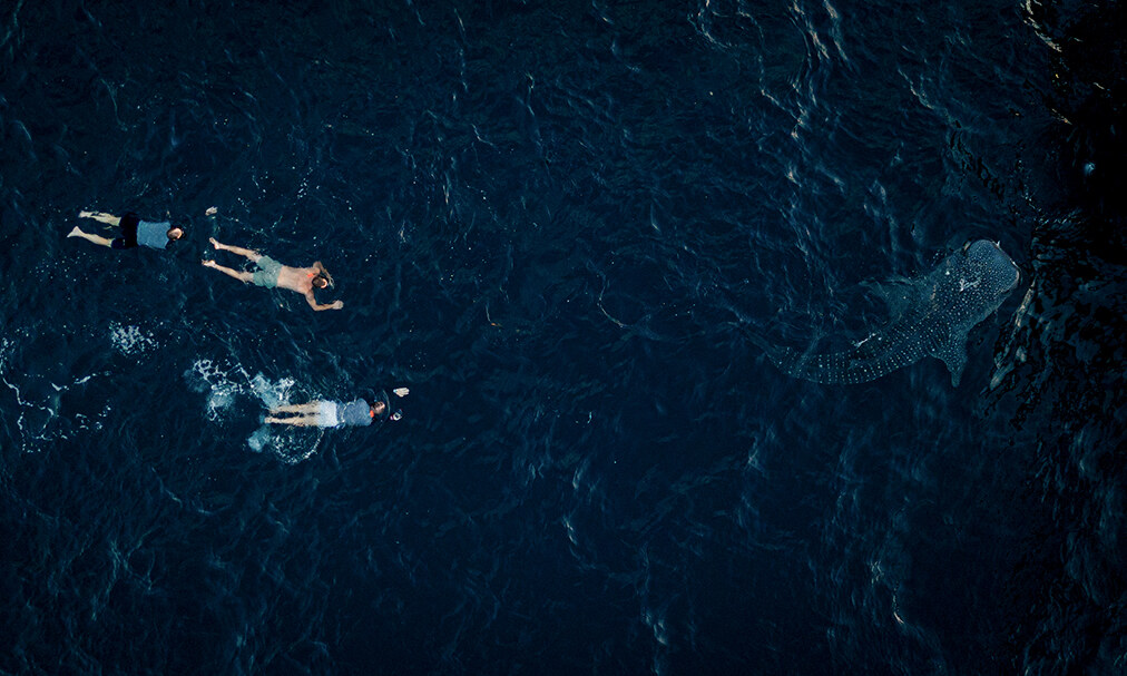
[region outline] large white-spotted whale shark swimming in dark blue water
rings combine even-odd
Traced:
[[[951,384],[958,386],[967,362],[967,335],[999,309],[1019,278],[1018,266],[996,243],[978,240],[928,275],[899,284],[891,293],[885,291],[885,300],[899,314],[867,338],[850,341],[851,349],[764,347],[783,373],[817,383],[869,382],[932,356],[947,365]]]

